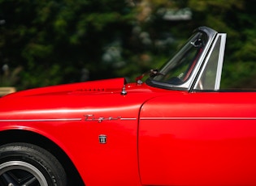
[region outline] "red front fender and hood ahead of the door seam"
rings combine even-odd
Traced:
[[[120,86],[112,88],[117,83]],[[22,129],[49,138],[72,159],[87,185],[119,185],[121,180],[126,180],[125,185],[140,185],[138,113],[158,89],[129,84],[129,94],[121,95],[124,78],[93,83],[104,91],[94,91],[90,84],[78,83],[81,90],[66,85],[51,87],[51,93],[41,88],[7,95],[0,99],[5,105],[0,130]],[[107,135],[104,145],[98,142],[100,134]]]

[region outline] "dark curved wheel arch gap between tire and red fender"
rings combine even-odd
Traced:
[[[72,160],[69,159],[67,154],[49,138],[42,136],[39,133],[34,133],[22,129],[9,129],[0,132],[0,146],[12,142],[25,142],[31,143],[36,146],[48,150],[53,154],[59,162],[63,165],[64,170],[67,173],[68,185],[85,186],[79,172],[76,170]]]

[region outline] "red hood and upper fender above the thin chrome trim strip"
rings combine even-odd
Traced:
[[[74,118],[86,114],[135,118],[147,100],[175,92],[145,83],[126,83],[124,78],[42,87],[2,97],[0,119]]]

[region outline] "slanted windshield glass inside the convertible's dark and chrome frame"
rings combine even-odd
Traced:
[[[171,85],[180,85],[186,82],[192,74],[205,44],[206,34],[195,33],[151,80]]]

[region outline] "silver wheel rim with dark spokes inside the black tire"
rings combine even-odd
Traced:
[[[8,186],[48,186],[41,171],[31,164],[21,161],[2,163],[0,177]]]

